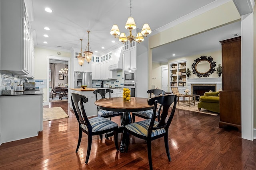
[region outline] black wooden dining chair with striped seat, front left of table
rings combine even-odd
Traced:
[[[89,160],[90,151],[92,147],[92,136],[94,135],[100,135],[100,134],[102,135],[103,133],[114,131],[114,142],[116,145],[116,150],[119,150],[118,141],[117,141],[118,124],[100,116],[88,119],[84,109],[84,103],[88,102],[88,98],[84,95],[72,93],[71,102],[72,102],[74,113],[76,115],[76,119],[79,124],[79,137],[78,137],[76,152],[78,151],[81,143],[82,133],[84,132],[88,135],[88,146],[87,146],[85,163],[87,164]]]

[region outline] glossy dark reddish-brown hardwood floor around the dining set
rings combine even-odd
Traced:
[[[67,101],[52,102],[62,107],[69,118],[44,121],[38,137],[3,143],[0,146],[1,170],[58,169],[58,170],[147,170],[147,145],[131,137],[128,153],[115,149],[113,137],[100,141],[93,137],[88,164],[85,164],[87,135],[83,134],[78,153],[78,123]],[[120,124],[120,118],[113,121]],[[136,117],[136,121],[141,120]],[[218,127],[219,116],[176,109],[169,131],[169,162],[164,139],[152,142],[153,168],[158,170],[255,170],[256,142],[241,139],[234,129]],[[11,122],[10,122],[11,123]],[[15,125],[14,125],[15,126]],[[18,127],[17,127],[18,128]],[[118,136],[120,144],[121,134]]]

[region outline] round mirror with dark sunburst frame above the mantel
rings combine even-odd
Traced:
[[[212,57],[201,56],[192,64],[193,73],[198,77],[208,77],[215,71],[216,62]]]

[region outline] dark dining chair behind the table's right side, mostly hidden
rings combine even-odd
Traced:
[[[147,91],[149,95],[149,98],[152,97],[152,94],[154,94],[154,96],[160,96],[160,95],[164,95],[165,91],[164,90],[160,90],[160,89],[151,89]],[[159,105],[158,110],[156,111],[156,117],[158,118],[158,121],[160,120],[158,117],[159,111],[161,110],[161,105]],[[153,114],[153,109],[151,110],[146,110],[146,111],[137,111],[137,112],[133,112],[132,113],[132,122],[135,122],[135,116],[138,117],[142,117],[144,119],[151,119]],[[156,118],[155,117],[155,118]]]

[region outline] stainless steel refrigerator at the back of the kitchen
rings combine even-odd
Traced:
[[[92,88],[92,72],[75,71],[75,88],[87,85],[87,88]]]

